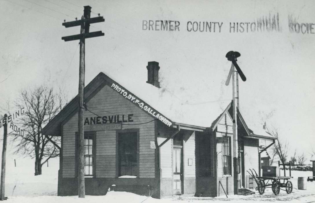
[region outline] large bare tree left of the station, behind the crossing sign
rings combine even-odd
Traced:
[[[42,128],[62,109],[63,98],[60,91],[56,94],[52,88],[40,86],[22,90],[16,102],[19,109],[24,107],[25,113],[14,122],[24,133],[11,133],[17,143],[15,152],[35,158],[35,176],[42,174],[42,165],[49,158],[59,156],[60,137],[45,136]]]

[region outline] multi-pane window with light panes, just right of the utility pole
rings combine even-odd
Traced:
[[[84,175],[95,175],[95,140],[94,135],[84,135]]]

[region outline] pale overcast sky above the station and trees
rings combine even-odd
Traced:
[[[43,84],[61,87],[69,101],[77,94],[78,41],[61,37],[80,28],[62,23],[80,19],[86,5],[91,17],[100,13],[105,19],[90,32],[105,36],[86,39],[85,84],[101,71],[117,82],[145,83],[147,62],[157,61],[161,86],[175,95],[180,87],[191,103],[228,101],[231,62],[225,55],[238,51],[247,78],[239,81],[239,105],[249,127],[266,122],[289,142],[290,153],[297,149],[309,156],[315,130],[314,1],[2,0],[1,107],[7,101],[13,106],[21,89]],[[269,22],[269,16],[273,26],[259,29],[258,22]],[[161,30],[160,22],[155,26],[161,20],[177,21],[179,29]],[[197,29],[199,22],[206,28],[210,23],[211,32]]]

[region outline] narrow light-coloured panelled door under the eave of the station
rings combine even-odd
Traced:
[[[182,148],[173,148],[173,194],[182,194]]]

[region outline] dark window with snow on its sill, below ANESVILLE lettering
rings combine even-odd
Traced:
[[[118,134],[118,176],[138,176],[138,133]]]

